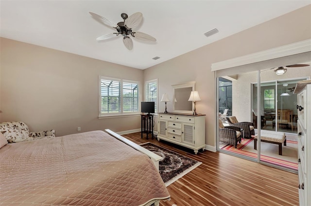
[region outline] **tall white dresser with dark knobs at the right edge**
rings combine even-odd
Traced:
[[[299,205],[311,206],[311,80],[298,82],[294,94],[298,111]]]

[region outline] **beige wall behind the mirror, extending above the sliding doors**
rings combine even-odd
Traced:
[[[195,81],[196,90],[201,98],[201,102],[196,104],[197,112],[207,115],[206,144],[215,146],[215,77],[214,72],[211,72],[211,64],[310,39],[310,17],[311,6],[308,5],[145,69],[144,78],[151,80],[158,77],[159,96],[163,93],[169,93],[171,97],[173,97],[171,85]],[[168,103],[168,110],[172,111],[172,108],[172,103]],[[161,110],[164,110],[163,103],[159,103],[159,111]]]

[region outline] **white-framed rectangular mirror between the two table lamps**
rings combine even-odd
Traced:
[[[192,113],[193,103],[188,101],[195,82],[187,82],[173,86],[173,110],[178,113]]]

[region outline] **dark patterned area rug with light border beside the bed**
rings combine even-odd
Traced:
[[[166,187],[202,164],[202,162],[190,159],[150,142],[143,143],[140,146],[162,157],[159,161],[159,173]]]

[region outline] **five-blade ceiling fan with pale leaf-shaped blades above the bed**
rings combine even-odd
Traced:
[[[102,36],[99,36],[96,38],[96,40],[109,39],[109,38],[112,38],[112,37],[115,37],[121,34],[123,36],[123,43],[128,50],[133,49],[133,41],[129,35],[139,40],[156,41],[156,39],[149,34],[145,34],[142,32],[132,32],[132,29],[136,28],[142,20],[142,14],[140,12],[137,12],[129,17],[127,16],[127,14],[122,13],[121,17],[123,18],[123,22],[121,21],[118,24],[115,24],[112,21],[106,19],[105,17],[99,16],[98,14],[95,14],[93,12],[89,12],[89,13],[96,20],[99,20],[105,25],[111,26],[117,30],[116,33],[104,34]]]

